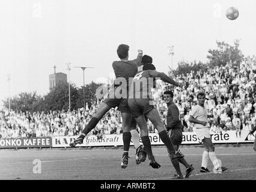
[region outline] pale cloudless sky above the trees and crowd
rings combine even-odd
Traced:
[[[239,17],[225,11],[236,7]],[[256,55],[255,0],[3,0],[0,1],[0,101],[20,92],[46,95],[49,74],[68,74],[80,87],[113,76],[119,44],[153,58],[168,73],[178,61],[207,62],[216,40],[240,40],[245,56]],[[169,55],[168,46],[174,46]],[[8,82],[8,74],[10,81]],[[1,105],[1,102],[0,102]]]

